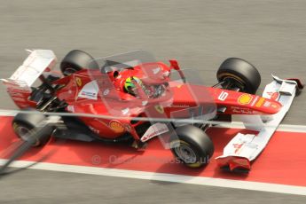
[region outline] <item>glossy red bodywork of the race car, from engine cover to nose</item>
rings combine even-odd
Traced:
[[[281,105],[279,102],[259,96],[241,93],[233,90],[223,90],[218,88],[194,85],[183,82],[170,82],[169,72],[171,69],[180,71],[177,61],[171,61],[171,67],[156,62],[147,63],[145,67],[161,68],[156,70],[158,74],[145,73],[142,70],[143,65],[126,69],[120,73],[110,72],[101,74],[99,70],[90,72],[87,69],[76,72],[52,82],[60,84],[63,87],[54,94],[60,99],[67,102],[67,112],[75,114],[96,114],[106,116],[122,116],[120,119],[100,119],[80,117],[82,122],[96,132],[100,137],[115,138],[120,137],[126,131],[129,131],[135,139],[139,139],[137,133],[132,127],[139,123],[131,124],[132,117],[146,115],[145,110],[152,107],[161,114],[171,116],[174,111],[186,109],[194,106],[215,104],[216,107],[225,108],[222,113],[217,114],[276,114],[279,112]],[[146,71],[150,70],[147,69]],[[118,75],[117,75],[118,74]],[[184,77],[182,72],[179,74]],[[136,76],[145,84],[163,84],[168,83],[169,86],[165,94],[159,98],[136,98],[124,90],[123,84],[130,76]],[[79,97],[84,86],[90,82],[96,81],[98,84],[97,97],[95,99]],[[33,101],[28,100],[29,93],[23,92],[19,98],[15,97],[14,89],[8,90],[12,99],[20,108],[27,106],[35,106]],[[21,100],[21,99],[22,100]],[[147,104],[144,105],[144,102]],[[156,106],[162,106],[159,110]],[[129,107],[128,114],[122,114],[124,108]],[[116,114],[117,113],[117,114]],[[158,114],[157,114],[158,115]],[[123,117],[124,116],[124,117]],[[156,116],[156,115],[153,115]]]

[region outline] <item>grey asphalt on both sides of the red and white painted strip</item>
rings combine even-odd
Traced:
[[[228,57],[252,62],[262,86],[279,77],[306,82],[304,1],[10,1],[0,4],[1,77],[27,53],[51,49],[61,59],[81,49],[95,57],[145,49],[200,68],[206,84]],[[1,107],[13,107],[1,90]],[[305,125],[306,95],[284,123]],[[303,173],[301,172],[303,176]],[[303,196],[42,170],[0,181],[0,203],[304,203]]]

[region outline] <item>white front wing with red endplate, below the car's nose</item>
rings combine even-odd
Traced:
[[[233,170],[251,169],[251,161],[263,151],[273,133],[279,127],[286,112],[293,103],[298,89],[302,84],[298,80],[282,80],[272,75],[273,82],[266,85],[263,98],[273,98],[282,104],[278,114],[272,115],[240,115],[246,129],[256,130],[258,134],[238,133],[228,145],[224,147],[223,155],[216,157],[218,165]]]

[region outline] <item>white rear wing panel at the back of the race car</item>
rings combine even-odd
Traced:
[[[4,82],[15,82],[16,85],[31,87],[36,79],[49,68],[55,66],[57,59],[53,51],[34,50],[30,51],[27,59],[12,74],[9,79],[2,79]]]

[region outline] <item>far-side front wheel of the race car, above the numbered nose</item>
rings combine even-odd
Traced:
[[[226,59],[219,67],[216,78],[223,82],[224,89],[255,94],[258,89],[261,76],[258,70],[244,59]]]

